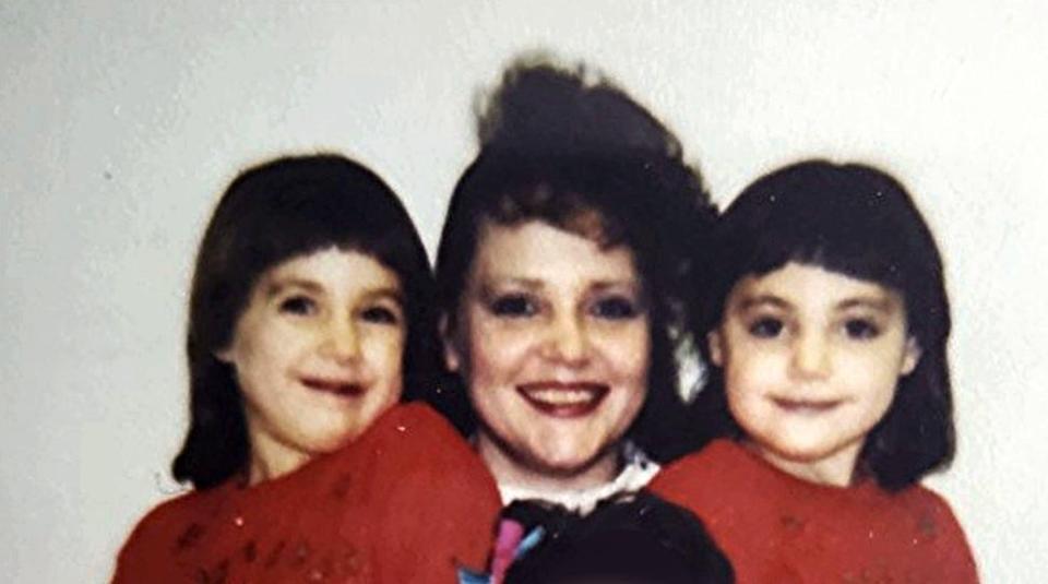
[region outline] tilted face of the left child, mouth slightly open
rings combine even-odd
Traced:
[[[254,285],[230,346],[253,458],[300,462],[360,434],[397,402],[407,331],[396,274],[331,248],[291,258]]]

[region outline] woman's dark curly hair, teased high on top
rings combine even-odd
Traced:
[[[582,69],[516,64],[478,114],[480,152],[451,198],[437,252],[437,298],[456,327],[463,290],[486,224],[548,223],[632,251],[648,301],[648,396],[628,436],[656,460],[679,454],[672,333],[704,250],[713,208],[677,139],[606,80]],[[675,324],[677,326],[674,329]],[[432,398],[463,433],[476,419],[455,376]]]

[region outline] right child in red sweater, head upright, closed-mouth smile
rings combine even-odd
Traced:
[[[905,189],[806,162],[747,188],[701,301],[724,438],[656,477],[706,523],[739,582],[976,582],[949,505],[919,485],[954,436],[949,303]]]

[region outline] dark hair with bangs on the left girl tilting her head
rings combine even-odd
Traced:
[[[334,154],[286,157],[241,172],[207,225],[189,306],[190,427],[172,474],[213,487],[242,470],[250,444],[229,346],[259,277],[327,248],[374,257],[396,273],[407,337],[404,400],[433,381],[439,344],[425,249],[401,201],[374,172]]]

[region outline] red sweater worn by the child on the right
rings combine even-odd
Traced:
[[[815,485],[718,440],[651,489],[703,520],[739,584],[978,582],[950,506],[920,486]]]

